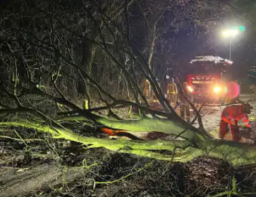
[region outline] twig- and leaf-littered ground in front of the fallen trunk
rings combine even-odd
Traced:
[[[207,196],[230,185],[230,166],[223,160],[198,157],[171,164],[73,145],[61,148],[58,161],[6,155],[8,162],[0,168],[0,196]],[[256,174],[255,167],[235,170],[237,187],[256,189],[252,172]]]

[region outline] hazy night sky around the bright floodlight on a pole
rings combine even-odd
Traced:
[[[161,35],[170,46],[175,45],[174,53],[166,54],[166,67],[186,67],[189,60],[195,58],[195,55],[218,55],[222,58],[229,58],[229,40],[221,36],[221,30],[230,26],[245,26],[246,31],[240,33],[232,39],[232,71],[234,79],[245,80],[249,67],[255,65],[255,24],[253,18],[256,4],[253,1],[244,1],[240,7],[236,7],[234,12],[221,12],[219,17],[205,24],[195,24],[193,19],[186,19],[187,23],[180,26],[178,31],[175,27],[171,27],[167,33]],[[208,13],[212,15],[212,13]],[[165,22],[160,26],[170,24],[168,17],[172,13],[165,15]],[[250,17],[248,17],[250,16]],[[138,10],[135,11],[131,20],[143,21],[143,17]],[[167,21],[166,21],[167,20]],[[147,37],[144,36],[143,28],[136,28],[136,36],[134,41],[138,44],[138,48],[143,51]],[[175,40],[175,44],[173,42]],[[142,42],[141,42],[142,41]],[[168,51],[168,50],[166,50]],[[159,49],[157,49],[157,53]],[[155,54],[157,57],[158,54]],[[168,58],[170,58],[168,62]],[[161,59],[161,58],[160,58]],[[170,65],[168,65],[170,64]]]

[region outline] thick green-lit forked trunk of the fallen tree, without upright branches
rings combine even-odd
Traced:
[[[6,110],[5,110],[6,111]],[[15,111],[18,111],[16,109]],[[1,112],[1,110],[0,110]],[[3,111],[2,111],[3,112]],[[11,121],[1,122],[1,126],[15,126],[24,128],[33,128],[40,132],[49,132],[56,139],[66,139],[72,142],[79,142],[86,145],[86,148],[104,147],[111,151],[119,151],[120,153],[131,153],[140,156],[152,157],[158,160],[170,160],[173,162],[188,162],[198,156],[216,157],[230,162],[232,166],[240,166],[246,164],[255,164],[256,146],[249,144],[241,144],[238,142],[230,142],[226,140],[212,139],[209,135],[189,126],[182,126],[181,123],[168,119],[152,119],[142,118],[140,120],[118,121],[99,117],[95,114],[89,114],[88,117],[103,126],[109,128],[124,129],[133,132],[165,132],[175,135],[172,141],[164,141],[157,139],[151,142],[134,142],[127,139],[98,139],[95,137],[85,137],[78,135],[69,128],[65,128],[42,113],[30,108],[22,108],[22,112],[30,112],[38,114],[39,117],[45,119],[44,122],[36,121]],[[90,112],[87,112],[90,113]],[[85,117],[82,117],[85,119]],[[72,117],[73,121],[81,121],[81,117]],[[87,119],[89,121],[89,119]],[[51,126],[46,124],[51,121]],[[175,138],[181,138],[175,140]],[[170,151],[169,154],[156,153],[154,151]]]

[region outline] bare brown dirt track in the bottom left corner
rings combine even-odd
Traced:
[[[81,169],[42,164],[31,168],[0,169],[0,196],[20,196],[65,184],[81,177]],[[65,176],[65,179],[63,178]]]

